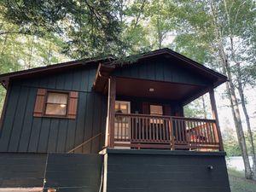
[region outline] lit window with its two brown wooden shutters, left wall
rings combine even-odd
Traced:
[[[34,117],[75,119],[79,92],[38,89]]]

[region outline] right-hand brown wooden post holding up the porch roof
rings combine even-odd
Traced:
[[[219,122],[218,122],[217,106],[216,106],[216,102],[215,102],[213,88],[210,88],[209,95],[210,95],[211,106],[212,106],[212,119],[215,119],[216,129],[217,129],[217,133],[218,133],[219,150],[224,151],[223,141],[222,141],[222,137],[221,137],[221,131],[220,131]]]

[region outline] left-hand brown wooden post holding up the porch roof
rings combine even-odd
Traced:
[[[110,77],[108,79],[108,129],[106,130],[106,134],[108,134],[108,139],[106,142],[108,143],[108,148],[113,148],[114,144],[114,104],[115,104],[115,95],[116,95],[116,79],[114,77]]]

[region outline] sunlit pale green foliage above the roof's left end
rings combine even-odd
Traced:
[[[0,3],[0,10],[5,10]],[[6,11],[6,10],[5,10]],[[20,26],[9,22],[0,12],[0,73],[49,65],[67,60],[61,55],[61,39],[52,33],[44,38],[21,32]]]

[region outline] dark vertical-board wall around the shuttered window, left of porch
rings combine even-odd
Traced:
[[[0,138],[0,152],[61,153],[105,131],[107,96],[91,90],[96,67],[23,79],[10,84]],[[35,118],[38,88],[79,92],[76,119]],[[104,135],[79,148],[77,153],[97,153]]]

